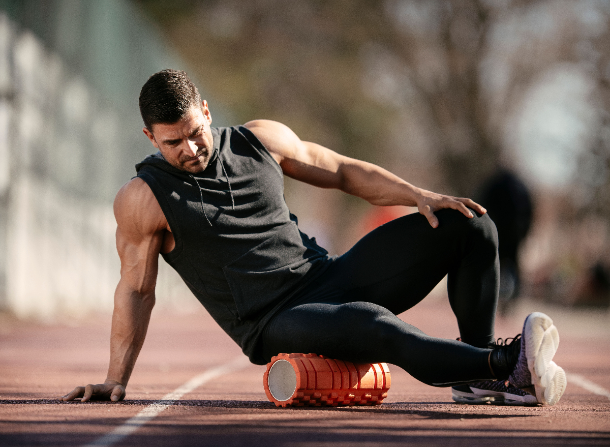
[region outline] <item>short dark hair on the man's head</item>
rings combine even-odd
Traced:
[[[150,131],[154,124],[178,122],[192,106],[201,106],[201,95],[181,70],[158,71],[140,90],[140,115]]]

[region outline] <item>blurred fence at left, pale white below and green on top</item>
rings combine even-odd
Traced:
[[[46,27],[30,29],[45,12]],[[104,38],[113,45],[90,54]],[[129,2],[0,2],[0,308],[37,318],[112,309],[112,197],[151,151],[137,96],[154,71],[180,68],[169,54]],[[110,67],[98,73],[87,60]],[[115,82],[98,79],[108,73]],[[157,302],[198,305],[164,262]]]

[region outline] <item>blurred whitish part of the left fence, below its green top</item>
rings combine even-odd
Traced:
[[[107,191],[118,189],[120,152],[130,150],[121,121],[0,10],[0,310],[40,319],[112,310],[120,262]],[[159,265],[157,306],[200,306]]]

